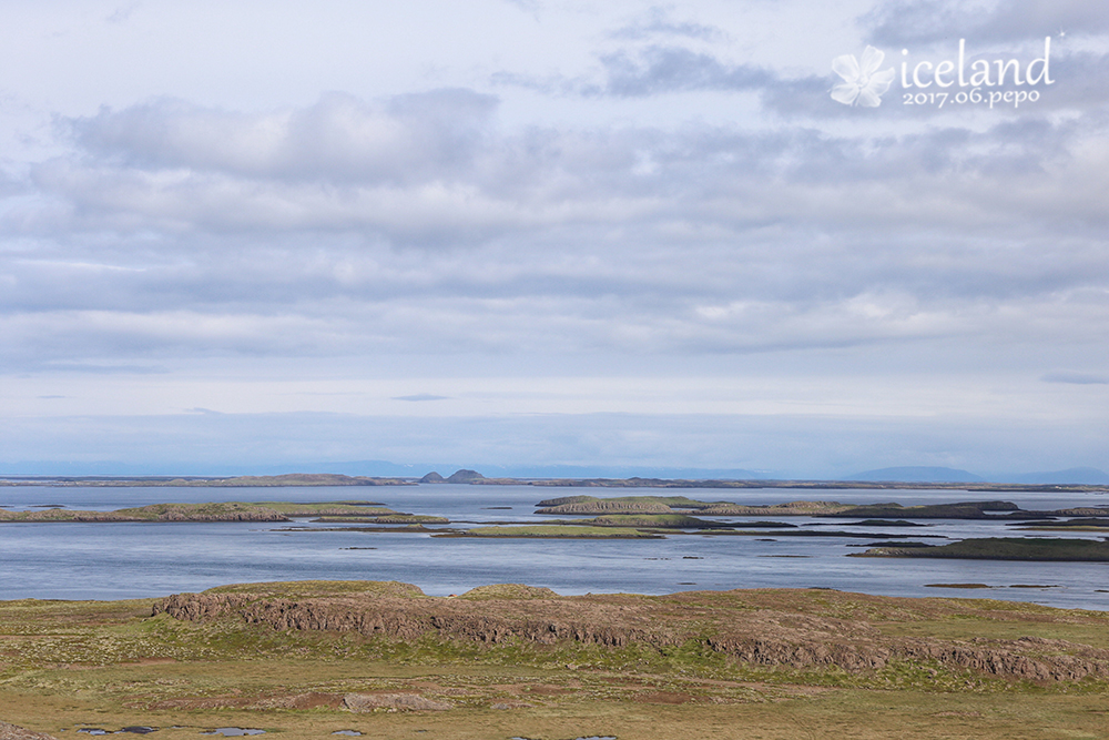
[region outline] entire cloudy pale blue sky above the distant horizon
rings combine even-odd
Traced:
[[[1106,193],[1101,0],[11,0],[0,473],[1109,470]]]

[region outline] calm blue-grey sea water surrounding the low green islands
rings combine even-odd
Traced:
[[[60,505],[110,510],[164,501],[367,499],[398,511],[450,518],[455,526],[529,523],[543,498],[682,494],[701,500],[777,504],[798,499],[869,504],[980,500],[981,494],[937,490],[580,489],[531,486],[406,486],[342,488],[96,488],[0,487],[12,509]],[[1025,509],[1106,506],[1097,494],[1048,497],[1005,494]],[[494,508],[509,507],[509,508]],[[750,518],[724,519],[743,521]],[[887,596],[989,597],[1059,607],[1109,610],[1109,564],[892,560],[848,558],[884,539],[846,521],[788,517],[821,530],[873,533],[873,539],[672,535],[661,540],[452,539],[421,534],[325,531],[334,525],[287,524],[2,524],[0,599],[120,599],[199,591],[233,582],[298,579],[372,579],[416,584],[436,596],[487,584],[547,586],[559,594],[756,587],[836,588]],[[935,521],[885,534],[939,537],[1016,536],[999,523]],[[1045,536],[1056,536],[1047,534]],[[1100,539],[1090,533],[1075,533]],[[774,541],[762,541],[771,539]],[[943,543],[943,539],[924,540]],[[357,548],[357,549],[350,549]],[[366,549],[373,548],[373,549]],[[989,590],[928,588],[927,584],[981,582]],[[1041,588],[1011,588],[1031,585]]]

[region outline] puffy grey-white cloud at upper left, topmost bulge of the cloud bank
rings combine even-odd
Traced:
[[[289,182],[397,185],[437,180],[471,162],[497,100],[468,90],[369,104],[342,93],[264,114],[161,99],[74,119],[75,143],[142,170],[206,171]]]

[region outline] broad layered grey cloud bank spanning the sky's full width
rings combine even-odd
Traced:
[[[1109,325],[1107,125],[503,131],[465,91],[105,110],[0,216],[38,245],[0,252],[3,362],[1081,344]]]

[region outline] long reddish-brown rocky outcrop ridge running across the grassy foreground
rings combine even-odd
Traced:
[[[521,587],[517,587],[521,588]],[[232,617],[278,630],[357,632],[414,640],[423,636],[484,645],[572,641],[665,649],[691,641],[759,666],[881,669],[924,661],[954,670],[1038,682],[1109,677],[1109,650],[1021,638],[940,640],[884,635],[856,618],[834,619],[764,608],[736,608],[736,592],[683,594],[665,601],[634,596],[557,597],[530,590],[491,591],[502,598],[398,598],[358,594],[322,598],[260,598],[257,594],[184,594],[154,614],[205,621]],[[476,595],[478,597],[485,594]]]

